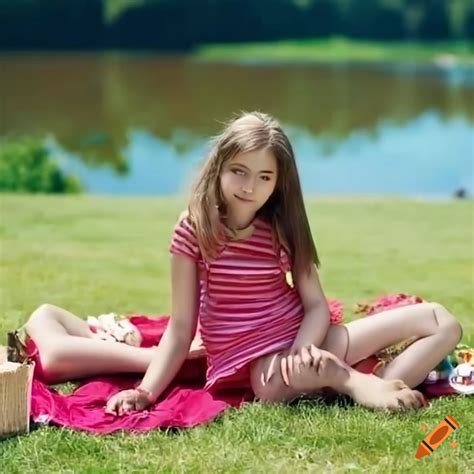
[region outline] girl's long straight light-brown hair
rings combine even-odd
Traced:
[[[281,245],[293,262],[292,270],[311,270],[312,262],[320,266],[306,215],[293,148],[279,123],[260,112],[242,113],[226,124],[215,137],[207,161],[193,186],[188,213],[194,226],[201,254],[213,260],[223,243],[226,217],[220,176],[224,164],[237,153],[268,148],[277,160],[275,189],[257,216],[272,227],[277,252]],[[277,253],[279,255],[279,253]]]

